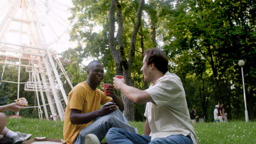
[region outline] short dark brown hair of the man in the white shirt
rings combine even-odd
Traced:
[[[152,48],[146,50],[143,54],[146,57],[147,64],[154,63],[155,67],[161,71],[162,73],[166,73],[168,71],[168,58],[164,51],[161,51],[156,48]]]

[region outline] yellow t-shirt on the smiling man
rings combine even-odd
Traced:
[[[106,104],[112,98],[106,96],[100,89],[93,91],[87,82],[79,83],[68,94],[68,103],[65,111],[63,125],[63,137],[67,143],[73,143],[80,130],[90,125],[93,121],[85,124],[72,124],[70,121],[70,109],[77,109],[81,113],[96,111],[100,105]]]

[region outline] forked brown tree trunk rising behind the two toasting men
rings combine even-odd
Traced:
[[[124,53],[124,44],[122,39],[123,34],[123,20],[121,14],[121,5],[117,0],[112,0],[111,5],[109,8],[109,49],[114,58],[114,62],[117,69],[117,74],[124,74],[126,79],[126,84],[129,86],[132,85],[131,81],[131,68],[132,68],[132,61],[135,56],[135,49],[136,49],[136,38],[139,26],[141,26],[141,16],[142,16],[142,7],[144,4],[144,0],[139,3],[138,10],[137,10],[137,21],[133,28],[131,43],[130,43],[130,51],[129,51],[129,58],[128,61],[125,58]],[[117,21],[118,21],[118,32],[117,32],[117,41],[118,41],[118,50],[115,48],[115,40],[114,40],[114,31],[115,31],[115,8],[117,8]],[[133,121],[134,112],[133,112],[133,103],[129,99],[122,94],[123,101],[125,103],[124,115],[125,117]]]

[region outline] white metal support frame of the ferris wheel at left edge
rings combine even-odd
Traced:
[[[39,118],[43,118],[43,107],[45,118],[49,119],[46,106],[49,105],[51,115],[59,115],[60,120],[63,121],[67,95],[60,77],[65,76],[71,88],[73,86],[60,59],[46,44],[34,3],[34,0],[9,1],[11,8],[0,23],[0,52],[2,53],[0,54],[0,59],[2,59],[0,64],[3,64],[0,82],[18,84],[17,98],[19,98],[20,85],[25,84],[25,91],[34,91],[36,94]],[[15,25],[19,28],[13,29],[12,26]],[[19,35],[18,42],[15,39],[9,41],[6,39],[10,33]],[[4,80],[6,65],[18,66],[17,82]],[[27,82],[20,82],[21,67],[25,67],[29,74]],[[46,104],[45,98],[48,104]],[[53,119],[56,121],[57,117],[53,117]]]

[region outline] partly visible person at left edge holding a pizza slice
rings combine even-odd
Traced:
[[[21,109],[23,109],[23,106],[21,106],[19,103],[11,103],[9,105],[0,106],[0,143],[21,143],[30,139],[31,134],[14,132],[5,127],[7,123],[7,116],[5,115],[5,113],[3,113],[3,111],[18,112]],[[4,139],[4,137],[7,137],[11,141],[9,141],[8,139]]]

